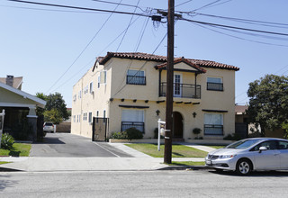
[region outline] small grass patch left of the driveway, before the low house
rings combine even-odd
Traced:
[[[12,150],[0,149],[0,156],[28,157],[31,144],[14,143]]]

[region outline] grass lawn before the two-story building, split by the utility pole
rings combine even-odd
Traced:
[[[139,150],[151,157],[164,157],[164,145],[160,146],[160,151],[157,151],[157,144],[125,144],[130,148]],[[186,147],[184,145],[172,145],[172,157],[206,157],[207,152]]]

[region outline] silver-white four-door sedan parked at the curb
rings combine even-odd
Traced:
[[[288,170],[288,140],[242,139],[211,151],[205,157],[205,163],[217,171],[232,170],[239,175],[247,175],[253,170]]]

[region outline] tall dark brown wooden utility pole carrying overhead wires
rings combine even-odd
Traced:
[[[171,164],[173,134],[173,65],[174,65],[174,17],[175,0],[168,0],[167,15],[167,69],[166,69],[166,134],[164,163]]]

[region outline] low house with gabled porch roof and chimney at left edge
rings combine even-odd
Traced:
[[[17,133],[22,129],[17,128],[23,125],[26,120],[31,123],[31,132],[33,139],[36,138],[37,132],[37,115],[36,107],[44,108],[46,102],[40,98],[27,94],[21,90],[23,77],[7,76],[3,83],[3,78],[0,82],[0,112],[4,109],[4,130],[3,132],[12,133],[17,136]]]

